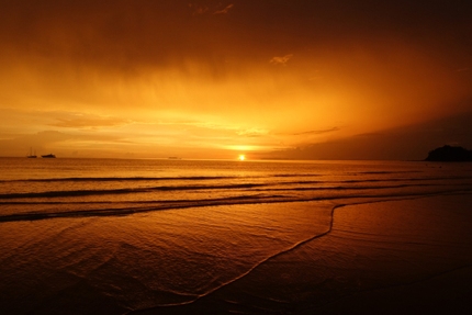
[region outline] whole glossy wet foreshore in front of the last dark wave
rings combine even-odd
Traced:
[[[15,222],[0,232],[2,314],[469,314],[472,306],[471,194]],[[182,245],[192,261],[170,256]],[[181,292],[207,286],[196,299],[159,291],[176,279]],[[156,307],[160,301],[181,305]]]

